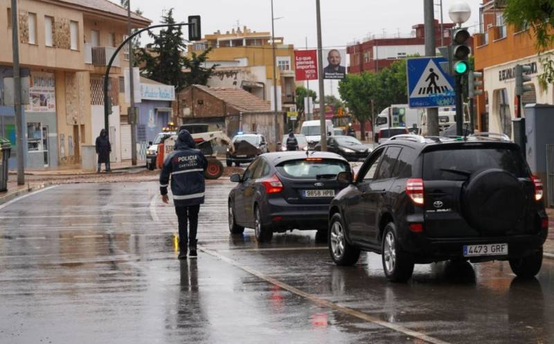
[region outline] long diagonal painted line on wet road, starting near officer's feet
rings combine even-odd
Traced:
[[[212,251],[209,248],[204,248],[202,245],[198,245],[198,249],[204,253],[207,253],[208,255],[211,255],[213,257],[216,257],[224,262],[227,262],[233,266],[238,267],[239,269],[246,271],[247,273],[250,273],[251,275],[255,275],[257,278],[260,278],[261,280],[265,280],[266,282],[269,282],[271,284],[276,285],[277,287],[280,287],[281,289],[285,289],[291,293],[294,293],[298,296],[301,296],[303,298],[307,298],[308,300],[316,303],[317,305],[320,305],[322,307],[328,307],[330,309],[334,309],[337,311],[341,311],[345,314],[348,314],[350,316],[354,316],[356,318],[359,318],[361,320],[367,321],[369,323],[374,323],[375,325],[380,325],[382,327],[386,327],[388,329],[393,329],[396,332],[400,332],[403,334],[406,334],[408,336],[411,336],[413,338],[418,338],[422,341],[425,341],[427,343],[433,343],[433,344],[449,344],[449,342],[441,341],[438,338],[434,338],[431,336],[427,336],[427,334],[424,334],[422,332],[413,331],[411,329],[408,329],[406,327],[396,325],[394,323],[389,323],[388,321],[381,320],[375,316],[370,316],[368,314],[365,314],[361,311],[356,311],[354,309],[350,309],[347,307],[343,307],[341,305],[337,305],[334,302],[330,302],[328,300],[324,300],[322,298],[318,298],[317,296],[314,296],[310,293],[306,293],[305,291],[301,291],[300,289],[297,289],[295,287],[292,287],[289,284],[280,282],[279,280],[276,280],[275,278],[271,278],[269,276],[264,275],[263,273],[260,273],[259,271],[256,271],[254,269],[249,268],[248,266],[244,266],[240,264],[239,262],[232,260],[229,257],[226,257],[224,255],[221,255],[220,253],[217,253],[216,251]]]

